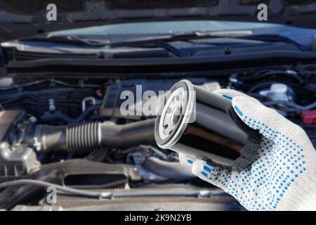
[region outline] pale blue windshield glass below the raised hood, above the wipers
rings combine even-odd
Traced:
[[[287,37],[300,44],[310,44],[315,30],[277,25],[272,23],[244,23],[212,20],[184,20],[146,23],[121,23],[114,25],[93,26],[72,30],[51,32],[53,37],[101,37],[111,42],[129,41],[137,37],[158,37],[159,35],[218,33],[220,35],[264,35],[275,34]],[[217,41],[213,39],[213,41]],[[227,41],[227,40],[226,40]]]

